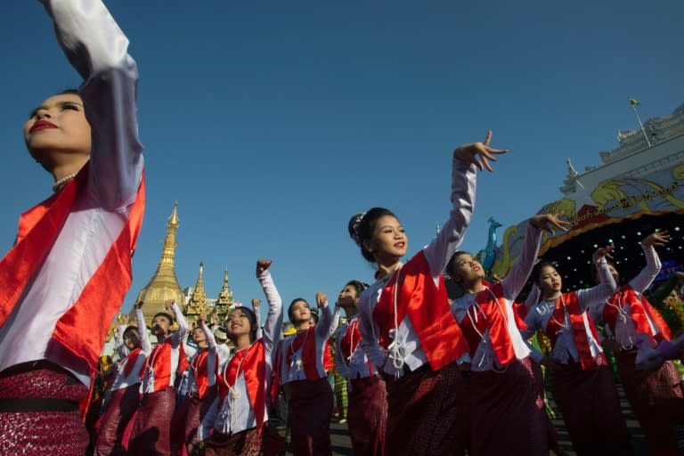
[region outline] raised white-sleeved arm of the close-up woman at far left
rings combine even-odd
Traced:
[[[138,69],[128,39],[100,1],[42,0],[57,40],[83,77],[79,94],[93,129],[90,185],[103,208],[134,202],[142,175],[138,141]]]

